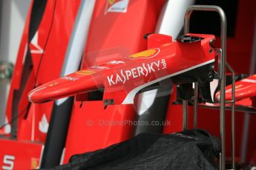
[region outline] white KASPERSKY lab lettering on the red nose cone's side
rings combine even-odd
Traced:
[[[148,74],[152,72],[158,72],[161,69],[166,68],[165,59],[153,61],[149,64],[143,63],[141,66],[134,67],[132,69],[123,70],[116,72],[114,75],[107,76],[108,84],[110,86],[116,84],[125,84],[126,81],[129,81],[133,78],[140,78],[142,76],[147,77]]]

